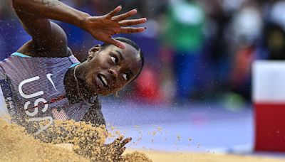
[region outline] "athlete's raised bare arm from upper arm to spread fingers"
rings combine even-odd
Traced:
[[[122,9],[121,6],[104,16],[90,16],[57,0],[13,0],[13,6],[26,31],[33,37],[33,41],[39,44],[54,43],[53,35],[58,33],[53,32],[53,25],[48,19],[71,23],[88,31],[99,41],[114,44],[119,48],[124,48],[124,44],[114,40],[114,34],[145,31],[145,28],[129,26],[145,23],[146,18],[125,20],[137,13],[135,9],[115,16]]]

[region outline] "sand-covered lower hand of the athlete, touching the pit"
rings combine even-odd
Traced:
[[[125,145],[128,144],[132,138],[126,138],[124,139],[124,136],[118,137],[118,139],[115,139],[111,144],[105,145],[105,153],[110,156],[113,160],[119,160],[121,155],[125,151]]]

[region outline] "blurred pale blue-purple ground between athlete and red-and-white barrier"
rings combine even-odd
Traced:
[[[250,105],[232,112],[214,102],[167,106],[104,100],[103,107],[108,130],[133,138],[129,148],[254,152],[254,116]]]

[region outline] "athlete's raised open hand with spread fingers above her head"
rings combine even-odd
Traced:
[[[126,18],[137,13],[136,9],[115,16],[121,9],[122,6],[118,6],[104,16],[90,16],[83,22],[83,28],[99,41],[113,44],[118,48],[125,48],[124,43],[115,40],[112,36],[118,33],[138,33],[145,31],[143,27],[135,28],[130,26],[145,23],[147,18],[126,20]]]

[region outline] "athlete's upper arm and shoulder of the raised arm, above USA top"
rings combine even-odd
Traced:
[[[64,57],[68,55],[66,33],[48,18],[41,18],[16,11],[21,24],[32,37],[32,41],[23,45],[19,52],[38,57]]]

